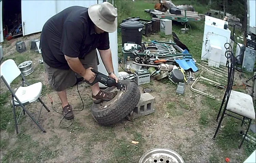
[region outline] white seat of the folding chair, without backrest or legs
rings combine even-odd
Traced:
[[[19,87],[15,92],[15,95],[22,104],[25,104],[27,102],[32,103],[36,101],[40,96],[41,92],[42,83],[38,82],[27,87]],[[14,98],[14,104],[18,105],[19,103],[15,101],[17,101],[16,98]]]

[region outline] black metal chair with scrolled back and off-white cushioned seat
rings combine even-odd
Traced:
[[[246,93],[232,90],[234,72],[235,72],[235,57],[233,53],[228,50],[229,47],[227,46],[230,46],[230,44],[229,43],[225,44],[225,48],[226,48],[225,56],[228,60],[228,84],[227,84],[227,88],[226,88],[226,91],[222,100],[221,108],[219,109],[216,121],[218,121],[218,118],[219,118],[219,115],[221,114],[224,103],[225,105],[223,108],[221,119],[219,121],[217,129],[213,136],[213,139],[215,139],[224,117],[231,116],[238,120],[241,120],[242,121],[241,126],[243,126],[243,124],[246,126],[245,120],[248,120],[249,123],[248,123],[248,126],[246,126],[246,132],[244,134],[241,144],[238,147],[240,149],[247,135],[247,132],[250,128],[252,120],[255,119],[255,111],[254,111],[252,96]],[[235,113],[238,116],[234,116],[230,113]]]

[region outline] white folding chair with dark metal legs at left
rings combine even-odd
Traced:
[[[8,90],[12,93],[12,107],[13,107],[13,116],[14,116],[14,123],[15,123],[15,129],[16,133],[18,133],[18,123],[19,119],[25,112],[28,114],[28,116],[32,119],[32,121],[43,131],[46,132],[38,123],[41,111],[43,106],[45,109],[49,112],[50,110],[47,108],[47,106],[43,103],[43,101],[39,98],[41,92],[42,92],[42,83],[38,82],[32,85],[29,85],[27,79],[24,77],[24,75],[20,72],[18,66],[16,65],[15,61],[12,59],[8,59],[4,61],[1,64],[0,67],[0,75],[4,82],[4,84],[7,86]],[[14,91],[11,89],[10,84],[13,82],[14,79],[16,79],[18,76],[22,76],[22,86],[17,89],[17,91],[14,93]],[[24,86],[24,83],[27,86]],[[29,113],[29,111],[26,109],[25,105],[37,101],[37,99],[42,104],[38,120],[36,121],[34,117]],[[16,120],[16,114],[15,114],[15,107],[20,106],[22,107],[22,112],[19,114],[18,121]]]

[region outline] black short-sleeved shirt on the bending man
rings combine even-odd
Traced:
[[[40,48],[44,62],[54,68],[70,69],[64,55],[84,58],[90,51],[107,50],[109,33],[95,33],[88,8],[68,7],[51,17],[43,26]]]

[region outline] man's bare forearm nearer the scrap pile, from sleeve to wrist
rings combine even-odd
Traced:
[[[108,73],[114,72],[111,50],[99,50],[101,60]]]

